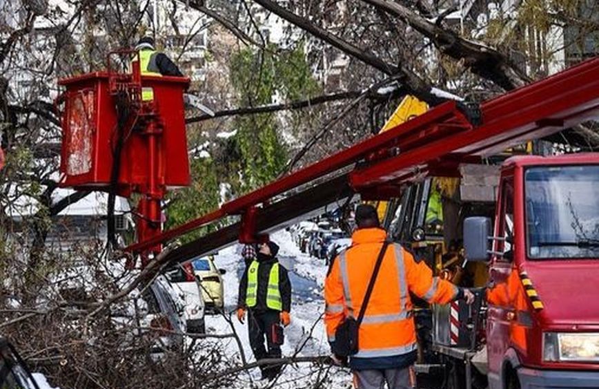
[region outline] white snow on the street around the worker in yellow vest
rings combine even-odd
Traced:
[[[285,343],[282,345],[283,357],[297,356],[308,357],[328,355],[329,347],[326,341],[326,332],[322,315],[324,313],[324,298],[322,285],[326,276],[324,260],[312,258],[299,252],[293,243],[288,231],[278,231],[271,235],[271,240],[279,246],[279,258],[282,265],[290,270],[293,287],[291,306],[291,324],[285,329]],[[240,255],[241,247],[228,247],[215,256],[217,267],[226,269],[223,276],[224,303],[228,313],[232,313],[232,324],[246,355],[248,363],[255,361],[248,341],[246,324],[241,324],[235,316],[237,307],[237,290],[239,276],[244,269],[244,262]],[[206,332],[226,334],[231,332],[230,325],[220,315],[206,316]],[[235,339],[228,338],[221,342],[225,358],[231,366],[239,365],[239,347]],[[326,368],[324,368],[326,370]],[[321,372],[322,374],[323,372]],[[317,380],[317,370],[308,363],[288,365],[284,367],[282,376],[277,380],[277,388],[306,388],[313,386]],[[331,368],[331,380],[322,383],[327,388],[348,388],[351,386],[351,374],[348,370]],[[255,368],[242,374],[233,388],[266,388],[268,381],[260,381],[259,369]]]

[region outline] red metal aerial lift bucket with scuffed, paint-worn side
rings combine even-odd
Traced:
[[[120,75],[122,76],[122,75]],[[59,81],[62,96],[63,141],[61,186],[108,191],[117,144],[117,109],[110,94],[110,73],[89,73]],[[141,77],[141,86],[151,87],[157,112],[156,184],[182,187],[190,183],[183,93],[185,77]],[[119,194],[144,193],[150,180],[150,146],[147,133],[133,126],[126,129],[117,187]]]

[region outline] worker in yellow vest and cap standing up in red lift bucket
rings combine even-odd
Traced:
[[[150,75],[154,77],[174,76],[183,77],[181,70],[164,53],[156,51],[153,37],[143,37],[137,42],[135,50],[139,53],[139,71],[141,75]],[[142,82],[143,85],[143,82]],[[152,88],[141,88],[141,99],[150,101],[154,99]]]

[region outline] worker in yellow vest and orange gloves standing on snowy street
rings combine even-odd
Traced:
[[[257,361],[280,358],[283,331],[291,323],[291,282],[287,269],[277,260],[279,246],[274,242],[258,245],[256,257],[239,283],[237,319],[244,323],[248,316],[248,336]],[[268,351],[264,347],[264,338]],[[275,379],[281,366],[260,366],[262,379]]]

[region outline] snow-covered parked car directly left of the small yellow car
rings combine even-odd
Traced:
[[[186,330],[191,333],[204,333],[206,324],[204,322],[205,303],[201,292],[202,285],[194,273],[190,263],[177,265],[166,271],[166,276],[173,283],[173,288],[184,303],[184,319]]]

